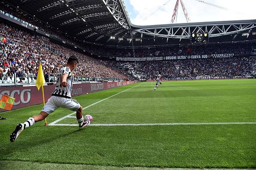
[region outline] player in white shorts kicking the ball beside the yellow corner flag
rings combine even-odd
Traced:
[[[77,64],[78,59],[75,56],[70,56],[66,67],[59,70],[56,77],[57,80],[55,90],[53,91],[50,99],[48,99],[48,102],[44,105],[40,114],[29,117],[28,120],[23,124],[18,124],[16,129],[10,135],[11,142],[14,142],[23,130],[32,126],[35,122],[44,120],[50,113],[59,107],[76,111],[79,129],[83,129],[90,124],[90,121],[84,122],[84,117],[82,114],[83,108],[81,105],[76,100],[71,99],[73,83],[72,71],[76,68]]]

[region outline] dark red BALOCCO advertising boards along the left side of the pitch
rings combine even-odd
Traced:
[[[138,83],[138,80],[135,81],[120,81],[120,82],[105,82],[105,83],[79,83],[73,84],[71,96],[79,96],[86,93],[93,93],[100,90],[107,90],[119,86],[125,86],[128,84]],[[44,86],[44,99],[45,102],[50,98],[53,90],[55,89],[54,85]],[[35,86],[28,87],[0,87],[1,95],[5,94],[15,98],[12,109],[23,108],[26,106],[41,104],[42,91],[37,90]],[[0,109],[0,112],[6,111]]]

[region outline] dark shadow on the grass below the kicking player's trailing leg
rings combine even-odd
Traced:
[[[28,141],[22,141],[22,140],[19,140],[19,138],[15,142],[8,141],[6,148],[4,148],[1,151],[1,156],[8,158],[8,157],[11,157],[14,152],[26,151],[27,148],[33,148],[34,146],[38,147],[40,145],[45,145],[50,142],[56,141],[59,138],[65,138],[67,136],[73,135],[74,133],[78,133],[80,131],[82,131],[82,130],[73,130],[70,132],[58,133],[58,134],[49,135],[49,136],[40,136],[40,134],[38,134],[37,138],[33,138]],[[25,134],[23,133],[21,135],[25,135]],[[1,158],[1,156],[0,156],[0,158]]]

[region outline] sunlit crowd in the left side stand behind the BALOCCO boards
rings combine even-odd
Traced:
[[[42,62],[44,74],[56,75],[66,65],[68,57],[75,55],[79,59],[74,71],[76,77],[127,78],[120,70],[112,69],[110,61],[93,59],[3,23],[0,24],[0,36],[0,67],[6,77],[16,73],[22,81],[30,74],[33,79],[37,76],[39,62]]]

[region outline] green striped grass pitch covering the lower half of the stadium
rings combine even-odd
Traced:
[[[156,91],[154,85],[141,82],[74,99],[85,107],[126,90],[84,109],[84,115],[94,117],[92,125],[256,122],[255,79],[169,81]],[[34,105],[0,113],[7,118],[0,120],[1,168],[25,169],[28,163],[38,162],[55,163],[49,169],[56,164],[96,169],[256,168],[256,124],[89,126],[78,130],[69,126],[77,124],[76,119],[68,117],[56,123],[68,126],[45,127],[38,122],[9,142],[16,125],[41,108]],[[70,113],[59,108],[47,117],[47,123]]]

